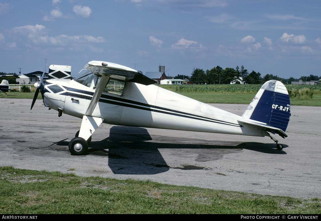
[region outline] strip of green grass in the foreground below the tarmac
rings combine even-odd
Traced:
[[[320,199],[0,167],[1,214],[320,214]]]

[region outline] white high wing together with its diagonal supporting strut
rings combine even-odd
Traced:
[[[85,66],[85,69],[91,71],[95,75],[101,75],[100,82],[96,88],[94,95],[91,98],[90,104],[86,111],[87,116],[90,116],[94,111],[109,78],[114,78],[118,80],[134,82],[134,83],[144,84],[144,85],[157,83],[157,81],[149,77],[146,77],[140,71],[136,71],[130,67],[126,67],[126,66],[122,66],[122,65],[118,65],[110,62],[90,61]]]

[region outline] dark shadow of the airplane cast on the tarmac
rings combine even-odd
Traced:
[[[169,141],[172,141],[170,143]],[[65,140],[56,143],[59,146],[68,146]],[[196,170],[211,168],[197,167],[195,165],[181,165],[171,167],[168,165],[159,149],[168,150],[169,155],[188,158],[196,155],[196,162],[218,160],[225,154],[238,153],[243,149],[259,151],[269,154],[286,154],[283,150],[277,150],[274,143],[263,144],[256,142],[218,141],[206,142],[200,139],[187,137],[164,137],[149,135],[145,128],[114,126],[110,128],[109,137],[101,141],[91,141],[88,154],[97,157],[108,157],[108,166],[115,174],[158,174],[168,171],[170,168],[182,170]],[[283,145],[284,148],[287,147]],[[108,150],[106,150],[108,149]]]

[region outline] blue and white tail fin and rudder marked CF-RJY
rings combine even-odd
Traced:
[[[242,115],[244,119],[265,124],[268,132],[277,133],[282,137],[287,137],[285,130],[290,116],[288,91],[282,82],[276,80],[267,81],[262,85]]]

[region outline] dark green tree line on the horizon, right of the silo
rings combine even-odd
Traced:
[[[266,74],[263,77],[260,72],[252,71],[249,73],[242,65],[241,68],[237,66],[235,69],[227,67],[223,69],[220,66],[213,67],[211,70],[204,71],[200,68],[194,68],[191,76],[177,75],[175,79],[187,78],[192,84],[264,84],[269,80],[278,80],[283,84],[291,84],[291,81],[317,81],[321,76],[309,75],[298,78],[290,77],[288,79],[278,77],[277,75]]]

